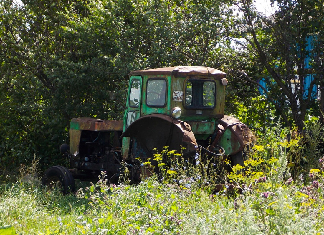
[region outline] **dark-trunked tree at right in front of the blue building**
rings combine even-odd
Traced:
[[[265,17],[256,11],[252,1],[233,1],[242,17],[232,18],[228,36],[249,53],[250,64],[256,67],[254,74],[241,67],[242,79],[263,90],[286,125],[295,124],[302,130],[307,113],[318,116],[316,86],[323,90],[324,26],[320,22],[324,7],[319,0],[271,3],[277,3],[278,10]],[[310,82],[305,86],[307,79]],[[323,108],[321,99],[322,113]]]

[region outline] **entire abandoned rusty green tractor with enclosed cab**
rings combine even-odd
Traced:
[[[250,129],[224,115],[226,73],[209,67],[181,66],[133,71],[129,74],[123,121],[74,118],[70,147],[61,152],[71,169],[52,166],[43,185],[59,182],[63,191],[75,191],[74,179],[88,180],[107,172],[111,183],[125,168],[134,182],[139,160],[146,161],[163,146],[183,155],[222,153],[232,164],[244,165],[244,149],[253,139]]]

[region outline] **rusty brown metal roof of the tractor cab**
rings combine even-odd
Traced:
[[[208,76],[213,77],[215,80],[226,78],[225,72],[205,66],[178,66],[159,69],[145,69],[133,71],[129,74],[129,76],[133,75],[171,75],[184,78],[188,76]]]

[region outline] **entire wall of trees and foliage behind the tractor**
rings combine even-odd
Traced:
[[[324,107],[312,92],[323,80],[323,6],[272,2],[279,9],[270,19],[246,0],[1,0],[0,171],[34,155],[44,168],[64,165],[58,147],[71,118],[120,119],[127,74],[137,69],[219,68],[230,81],[226,114],[260,132],[279,119],[301,130]],[[315,49],[307,51],[310,34]],[[303,84],[310,72],[310,90],[292,89],[296,74]]]

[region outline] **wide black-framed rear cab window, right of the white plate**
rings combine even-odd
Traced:
[[[186,107],[211,109],[215,107],[216,84],[211,80],[190,79],[186,82]]]

